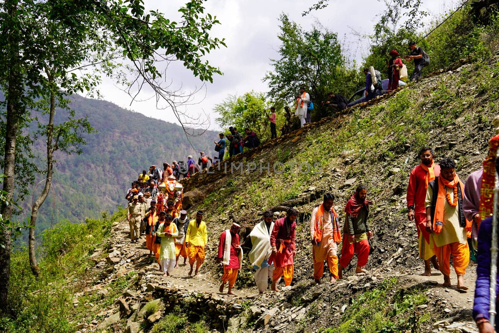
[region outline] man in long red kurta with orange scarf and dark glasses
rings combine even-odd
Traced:
[[[435,180],[440,175],[440,166],[436,165],[433,159],[435,154],[430,147],[424,147],[419,152],[421,164],[412,169],[407,186],[407,216],[409,221],[416,222],[418,232],[419,258],[425,262],[425,272],[422,276],[431,276],[433,267],[438,270],[437,257],[430,246],[430,233],[426,231],[426,209],[425,199],[428,183]]]

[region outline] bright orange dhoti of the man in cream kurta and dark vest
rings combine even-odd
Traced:
[[[436,246],[435,241],[433,241],[433,251],[437,256],[438,262],[440,264],[440,272],[444,275],[451,275],[451,254],[452,262],[454,266],[454,271],[458,276],[464,276],[466,268],[470,263],[470,248],[468,247],[468,242],[466,244],[461,244],[459,242],[446,244],[444,246]]]

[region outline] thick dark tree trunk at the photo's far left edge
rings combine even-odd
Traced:
[[[7,63],[4,64],[9,68],[8,76],[5,78],[8,88],[5,99],[7,101],[6,109],[6,133],[5,133],[5,155],[3,168],[3,191],[6,192],[7,201],[12,201],[14,197],[14,168],[15,168],[15,144],[17,131],[19,126],[19,117],[24,112],[20,103],[20,98],[23,93],[23,85],[21,84],[21,74],[19,73],[20,58],[19,58],[19,32],[15,26],[15,15],[17,11],[17,0],[6,0],[3,4],[5,11],[10,15],[10,24],[7,23],[5,33],[8,37],[6,49],[10,52],[5,57]],[[3,204],[1,206],[1,214],[3,220],[8,220],[12,217],[12,205]],[[8,285],[10,278],[10,229],[7,227],[0,235],[0,243],[4,247],[0,247],[0,314],[6,314],[8,309]]]

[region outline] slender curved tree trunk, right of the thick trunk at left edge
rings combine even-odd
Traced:
[[[49,76],[49,84],[51,85],[51,78]],[[53,87],[51,87],[53,89]],[[35,277],[40,275],[40,268],[38,267],[38,263],[36,262],[36,254],[35,254],[35,227],[36,227],[36,218],[38,216],[38,210],[40,206],[43,204],[45,199],[48,196],[48,192],[50,191],[50,186],[52,185],[52,173],[53,173],[53,153],[54,150],[57,149],[57,144],[52,145],[53,140],[53,130],[54,130],[54,115],[55,115],[55,96],[53,90],[50,92],[50,116],[48,119],[47,125],[47,174],[45,178],[45,186],[43,186],[43,190],[40,195],[33,203],[33,207],[31,207],[31,220],[29,228],[29,238],[28,238],[28,252],[29,252],[29,266],[31,267],[31,272]]]

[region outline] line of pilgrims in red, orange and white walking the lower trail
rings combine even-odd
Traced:
[[[499,135],[490,141],[491,150],[484,161],[484,168],[472,173],[463,183],[456,173],[456,162],[444,158],[439,164],[434,161],[435,154],[430,147],[422,148],[419,153],[420,164],[410,173],[407,189],[408,219],[414,221],[418,234],[419,257],[423,260],[423,276],[431,276],[431,266],[443,275],[443,286],[451,287],[450,259],[457,275],[456,288],[466,291],[464,275],[470,255],[478,264],[474,318],[480,332],[492,328],[489,322],[489,275],[491,262],[491,230],[496,151]],[[161,186],[162,184],[165,186]],[[208,231],[203,221],[204,213],[198,211],[195,219],[189,219],[182,209],[182,188],[173,177],[167,177],[157,189],[154,182],[149,188],[146,205],[139,194],[130,197],[128,206],[130,236],[132,242],[140,238],[142,228],[135,221],[141,219],[146,235],[146,247],[154,254],[164,276],[170,275],[179,265],[180,257],[187,258],[191,266],[189,276],[197,275],[205,260],[208,244]],[[154,188],[154,189],[153,189]],[[151,196],[151,192],[154,196]],[[134,191],[135,193],[135,191]],[[180,194],[179,194],[180,193]],[[368,224],[369,207],[365,185],[357,186],[344,208],[344,223],[340,229],[340,217],[334,206],[335,197],[325,193],[322,203],[311,212],[309,220],[310,242],[312,246],[313,278],[321,283],[324,275],[324,262],[330,272],[330,283],[343,279],[343,270],[348,268],[357,255],[355,273],[365,273],[369,257],[369,240],[374,232]],[[140,207],[139,207],[140,206]],[[296,255],[296,219],[300,216],[290,208],[284,217],[274,220],[274,213],[265,211],[243,244],[240,240],[241,226],[233,223],[219,236],[216,262],[223,265],[222,283],[219,291],[235,295],[233,288],[243,264],[243,248],[250,249],[249,262],[254,269],[254,281],[260,294],[268,288],[270,280],[272,291],[279,291],[281,279],[285,286],[293,280],[294,257]],[[304,216],[304,214],[301,214]],[[140,221],[139,221],[140,222]],[[139,234],[137,234],[139,232]],[[341,256],[338,259],[338,245]]]

